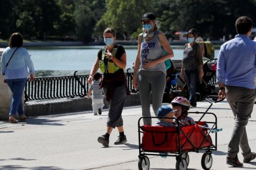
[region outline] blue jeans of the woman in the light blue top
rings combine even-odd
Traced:
[[[19,115],[24,115],[22,105],[22,95],[27,78],[7,79],[7,84],[12,91],[12,103],[9,115],[15,116],[18,111]]]

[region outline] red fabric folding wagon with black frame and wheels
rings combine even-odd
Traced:
[[[211,105],[213,105],[212,100],[209,99],[216,97],[218,96],[207,97],[206,100],[210,103],[210,106],[205,112],[189,112],[197,115],[202,114],[194,125],[182,127],[179,124],[177,127],[141,126],[140,121],[142,118],[157,119],[158,117],[139,118],[139,169],[148,170],[150,168],[150,160],[147,155],[176,156],[176,169],[187,169],[189,165],[189,152],[198,153],[199,150],[205,150],[201,160],[202,168],[210,169],[213,163],[211,151],[217,150],[216,132],[221,131],[221,129],[218,130],[217,128],[216,115],[207,112],[211,108]],[[216,102],[220,101],[222,100]],[[205,119],[209,119],[210,121],[203,120],[205,115],[207,115]],[[210,132],[215,132],[215,135],[213,135],[215,140],[211,140]]]

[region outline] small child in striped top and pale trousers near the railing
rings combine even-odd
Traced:
[[[96,73],[93,76],[93,83],[90,86],[90,89],[88,91],[87,99],[90,99],[90,95],[92,94],[92,108],[93,108],[93,113],[94,115],[101,115],[101,110],[104,107],[104,95],[102,89],[100,89],[100,81],[101,81],[101,75],[100,73]]]

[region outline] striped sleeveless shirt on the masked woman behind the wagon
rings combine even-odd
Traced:
[[[195,70],[197,69],[197,44],[192,47],[185,45],[183,52],[182,65],[184,70]]]

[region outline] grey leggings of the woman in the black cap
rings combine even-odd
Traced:
[[[165,77],[166,75],[162,71],[140,70],[137,74],[142,116],[151,116],[150,93],[152,97],[152,108],[155,115],[158,108],[161,107],[166,84]],[[143,123],[151,125],[151,118],[144,118]]]

